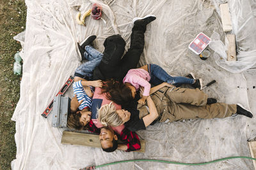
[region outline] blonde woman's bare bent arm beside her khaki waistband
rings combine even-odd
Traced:
[[[150,125],[158,117],[156,106],[150,96],[148,96],[147,98],[147,103],[148,103],[149,114],[142,118],[145,124],[145,127]]]

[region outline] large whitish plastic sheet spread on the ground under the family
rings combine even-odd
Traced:
[[[75,6],[80,5],[79,10],[83,13],[95,2],[102,5],[102,18],[106,20],[106,24],[102,20],[88,17],[85,21],[86,27],[78,25]],[[132,18],[150,13],[156,15],[157,19],[147,26],[140,66],[148,63],[159,64],[168,73],[180,76],[193,72],[196,78],[204,80],[204,85],[216,80],[214,85],[204,89],[209,97],[214,97],[219,102],[241,103],[249,108],[246,78],[242,73],[232,74],[218,66],[212,57],[214,52],[211,49],[211,57],[207,60],[201,60],[188,49],[189,43],[199,32],[204,32],[207,36],[218,34],[221,41],[225,39],[217,9],[220,3],[222,2],[201,0],[27,0],[28,15],[24,40],[17,37],[24,41],[24,64],[20,100],[12,117],[12,120],[16,121],[17,145],[17,155],[12,162],[12,169],[79,169],[92,164],[142,158],[198,163],[230,156],[250,156],[247,136],[253,138],[252,131],[256,125],[252,122],[255,122],[255,118],[238,115],[222,119],[157,123],[148,127],[146,131],[138,132],[146,141],[145,153],[104,153],[100,148],[62,145],[63,129],[51,127],[51,113],[47,119],[41,116],[63,83],[70,75],[74,75],[76,67],[81,64],[77,42],[95,34],[95,48],[102,52],[104,39],[112,34],[120,34],[127,42],[127,49],[130,44]],[[234,29],[239,45],[238,58],[242,53],[243,57],[245,53],[250,56],[249,54],[255,50],[251,36],[255,31],[250,29],[253,27],[250,11],[246,11],[247,8],[244,7],[249,4],[244,1],[230,3],[231,9],[239,11],[239,8],[242,8],[237,18],[232,17],[232,22],[238,23],[237,29]],[[66,94],[69,97],[72,95],[72,90]],[[247,124],[250,124],[250,129],[247,128]],[[200,167],[138,162],[102,169],[252,167],[251,160],[233,159]]]

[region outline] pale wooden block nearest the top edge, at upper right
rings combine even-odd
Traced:
[[[223,31],[232,31],[231,16],[229,13],[228,3],[220,4],[220,14]]]

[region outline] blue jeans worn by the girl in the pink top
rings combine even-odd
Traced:
[[[194,79],[186,78],[183,76],[170,76],[164,69],[156,64],[148,64],[148,73],[150,74],[150,83],[153,85],[159,85],[163,82],[167,82],[172,85],[180,84],[193,84]]]

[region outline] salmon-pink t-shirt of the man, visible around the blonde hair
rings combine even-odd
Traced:
[[[112,101],[109,101],[109,99],[107,99],[105,94],[101,94],[101,90],[102,89],[100,89],[99,87],[95,87],[95,91],[94,91],[93,97],[92,97],[92,103],[93,103],[93,101],[100,102],[100,106],[111,103]],[[113,103],[113,104],[115,105],[116,110],[122,109],[122,107],[119,104],[116,104],[116,103]],[[97,114],[97,113],[93,113],[95,111],[92,110],[92,114]],[[98,128],[103,127],[103,125],[100,123],[100,121],[97,118],[92,118],[92,122]],[[124,125],[119,125],[117,127],[111,127],[111,128],[114,131],[116,131],[118,134],[121,134],[121,132],[124,129]]]

